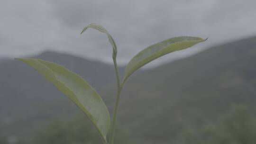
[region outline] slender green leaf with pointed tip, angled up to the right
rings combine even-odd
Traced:
[[[183,50],[205,40],[206,39],[202,39],[200,37],[180,36],[164,40],[145,48],[135,55],[126,66],[122,83],[124,84],[133,72],[144,66],[146,63],[149,63],[165,54]]]

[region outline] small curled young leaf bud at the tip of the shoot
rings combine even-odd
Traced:
[[[84,27],[84,28],[82,29],[81,34],[82,34],[84,31],[86,31],[86,29],[89,28],[89,27],[90,27],[90,28],[94,28],[94,29],[96,29],[96,30],[98,30],[98,31],[100,31],[100,32],[102,32],[102,33],[104,33],[104,34],[106,34],[106,35],[108,36],[108,38],[109,38],[110,44],[112,45],[113,53],[114,53],[114,54],[117,54],[117,45],[116,45],[114,39],[113,39],[112,36],[109,34],[109,32],[108,32],[104,27],[102,27],[101,25],[92,23],[92,24],[90,24],[89,26]]]

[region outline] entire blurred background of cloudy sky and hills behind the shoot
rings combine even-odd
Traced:
[[[120,73],[140,50],[174,36],[209,39],[132,75],[116,144],[256,143],[255,0],[0,0],[0,144],[101,144],[88,118],[14,57],[60,63],[113,110]],[[122,75],[122,74],[121,74]]]

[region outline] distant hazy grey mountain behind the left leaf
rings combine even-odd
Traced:
[[[84,77],[99,93],[101,87],[115,82],[114,68],[106,63],[55,52],[34,57],[64,65]],[[0,61],[0,135],[28,136],[55,118],[78,112],[69,99],[24,63]]]

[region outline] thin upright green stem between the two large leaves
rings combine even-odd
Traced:
[[[114,61],[115,72],[116,72],[116,77],[117,77],[117,89],[118,90],[117,90],[117,96],[116,96],[116,100],[115,100],[113,118],[112,118],[111,127],[110,127],[110,141],[109,141],[110,144],[114,144],[115,128],[116,128],[116,121],[117,121],[117,111],[118,111],[118,106],[119,106],[119,98],[120,98],[120,94],[122,91],[122,86],[120,85],[120,81],[119,81],[119,72],[118,72],[116,54],[113,54],[113,61]]]

